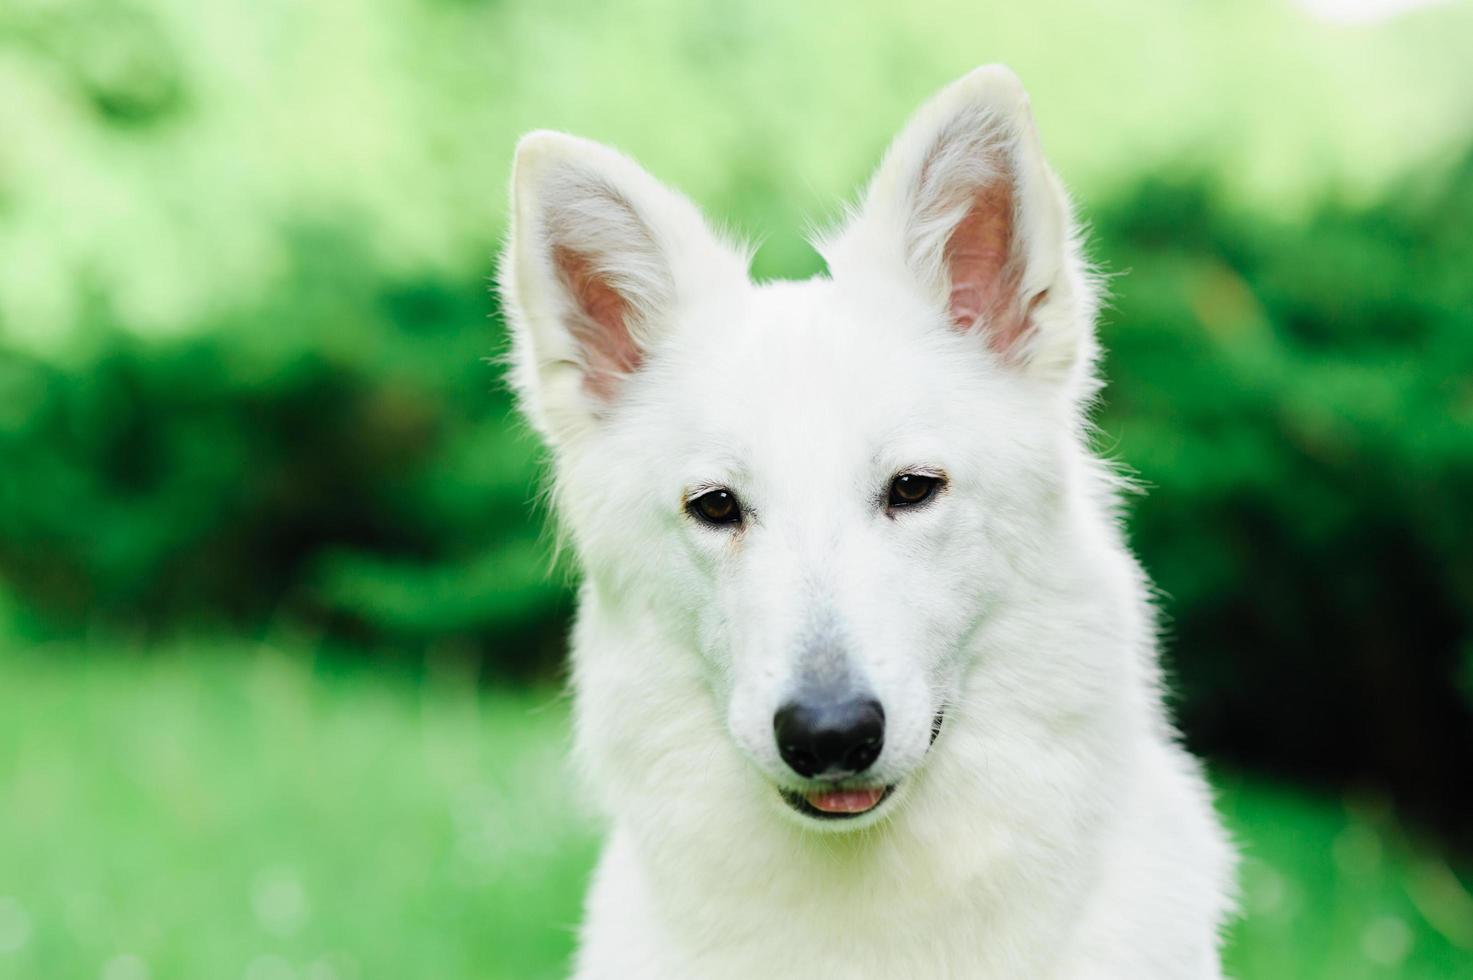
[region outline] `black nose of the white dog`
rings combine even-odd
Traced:
[[[885,709],[872,697],[798,700],[772,718],[782,760],[801,777],[863,772],[885,744]]]

